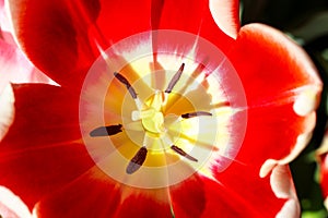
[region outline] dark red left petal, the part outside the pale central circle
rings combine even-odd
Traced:
[[[0,183],[32,209],[93,161],[79,129],[79,98],[49,85],[14,86],[15,118],[0,143]]]

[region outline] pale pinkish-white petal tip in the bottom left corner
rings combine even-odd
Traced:
[[[3,186],[0,186],[0,215],[5,218],[32,218],[32,214],[22,199]]]

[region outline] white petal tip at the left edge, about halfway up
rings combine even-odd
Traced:
[[[4,137],[14,119],[14,94],[11,85],[0,93],[0,141]]]

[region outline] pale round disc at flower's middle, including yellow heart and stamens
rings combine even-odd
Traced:
[[[102,51],[81,92],[80,126],[105,173],[157,189],[225,170],[243,141],[245,108],[236,72],[218,48],[191,34],[147,32]]]

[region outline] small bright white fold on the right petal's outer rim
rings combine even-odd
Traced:
[[[301,94],[296,96],[293,105],[295,113],[303,117],[314,111],[317,107],[319,92],[317,86],[304,88]]]

